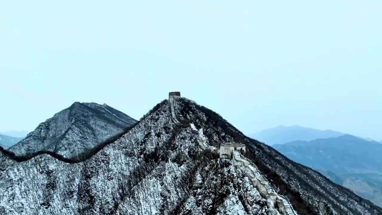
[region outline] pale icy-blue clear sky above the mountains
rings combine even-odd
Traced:
[[[169,91],[245,134],[382,139],[382,2],[1,1],[0,131],[75,101],[139,119]]]

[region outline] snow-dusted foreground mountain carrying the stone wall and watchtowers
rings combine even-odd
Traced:
[[[246,154],[219,158],[219,143]],[[4,214],[380,215],[382,208],[185,98],[157,104],[81,162],[0,153]],[[289,199],[289,200],[288,200]]]

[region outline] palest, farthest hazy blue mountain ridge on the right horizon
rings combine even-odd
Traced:
[[[332,130],[317,130],[312,128],[293,126],[277,126],[271,129],[265,129],[261,132],[249,135],[249,137],[259,140],[268,145],[283,144],[295,140],[315,140],[318,138],[338,137],[343,133]]]

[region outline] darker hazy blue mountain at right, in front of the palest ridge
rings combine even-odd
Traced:
[[[352,135],[273,145],[293,161],[382,206],[382,145]]]

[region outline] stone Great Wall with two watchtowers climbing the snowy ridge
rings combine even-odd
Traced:
[[[198,142],[202,148],[209,148],[208,138],[204,136],[203,129],[196,129],[192,122],[180,122],[175,114],[175,99],[180,98],[180,92],[168,93],[168,102],[170,104],[171,121],[180,128],[189,127],[191,130],[198,134]],[[256,187],[260,195],[264,199],[270,199],[272,205],[277,205],[278,211],[283,215],[298,215],[287,197],[277,194],[270,185],[267,178],[265,178],[257,166],[248,158],[241,155],[240,151],[246,150],[245,145],[241,143],[221,143],[219,149],[221,159],[231,159],[232,165],[236,173],[243,171],[244,175],[248,177],[249,181]],[[211,147],[213,148],[213,147]],[[221,151],[220,151],[221,150]],[[249,203],[251,204],[251,203]]]

